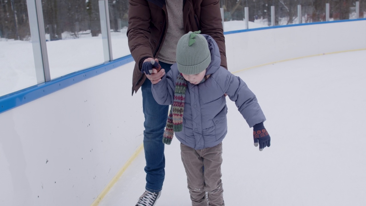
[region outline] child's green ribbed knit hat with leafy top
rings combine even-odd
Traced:
[[[184,34],[177,44],[177,65],[182,74],[198,74],[211,62],[210,49],[201,31]]]

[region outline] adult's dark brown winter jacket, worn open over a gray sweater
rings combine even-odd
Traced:
[[[128,47],[136,64],[132,75],[132,95],[146,76],[141,73],[146,58],[157,58],[168,26],[165,0],[128,0]],[[225,37],[219,0],[182,0],[185,33],[201,30],[214,38],[220,48],[221,66],[227,68]]]

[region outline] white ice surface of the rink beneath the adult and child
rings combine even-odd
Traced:
[[[303,58],[235,73],[257,95],[272,137],[259,152],[252,129],[228,101],[223,187],[228,206],[364,206],[366,51]],[[165,146],[156,206],[187,206],[179,141]],[[100,206],[135,205],[145,190],[143,151]]]

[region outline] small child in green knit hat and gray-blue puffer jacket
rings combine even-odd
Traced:
[[[172,104],[163,142],[170,144],[174,132],[181,142],[192,205],[206,206],[209,202],[223,206],[221,141],[227,133],[225,94],[254,128],[254,146],[259,143],[260,151],[269,147],[270,136],[254,93],[243,80],[220,66],[219,47],[213,38],[199,33],[189,32],[180,38],[176,63],[152,84],[152,93],[157,103]],[[148,63],[150,67],[152,63]]]

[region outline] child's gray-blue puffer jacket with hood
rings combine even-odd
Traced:
[[[203,36],[207,39],[211,52],[211,63],[206,69],[206,75],[210,76],[197,85],[187,81],[183,130],[175,132],[181,143],[196,150],[214,147],[224,139],[227,133],[225,93],[235,102],[250,127],[266,120],[257,98],[245,82],[220,66],[220,52],[216,42],[208,35]],[[173,103],[178,75],[175,63],[160,82],[152,85],[157,103]]]

